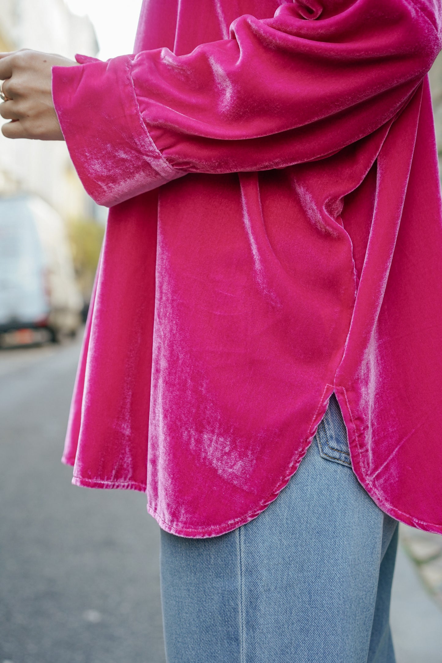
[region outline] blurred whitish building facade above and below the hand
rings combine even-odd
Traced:
[[[87,17],[64,0],[0,0],[0,50],[32,48],[74,58],[95,56],[97,38]],[[36,194],[64,219],[102,216],[85,194],[62,141],[6,139],[0,135],[0,196]]]

